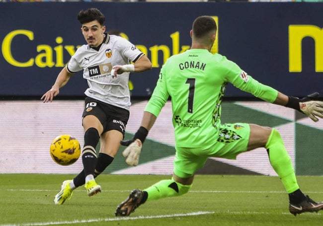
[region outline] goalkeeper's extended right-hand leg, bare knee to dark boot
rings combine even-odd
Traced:
[[[277,130],[258,125],[250,125],[248,151],[258,147],[267,150],[270,164],[280,177],[289,196],[289,211],[296,215],[303,212],[317,212],[323,209],[323,203],[316,203],[305,196],[297,183],[290,156]]]

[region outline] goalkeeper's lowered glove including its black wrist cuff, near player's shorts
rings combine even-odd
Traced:
[[[143,143],[148,135],[148,130],[145,127],[140,127],[132,140],[120,141],[123,146],[128,146],[122,155],[126,158],[126,163],[131,166],[138,165],[139,155],[143,146]]]

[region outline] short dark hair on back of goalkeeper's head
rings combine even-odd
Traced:
[[[217,24],[211,16],[199,16],[194,20],[192,30],[194,36],[200,38],[212,30],[217,30]]]

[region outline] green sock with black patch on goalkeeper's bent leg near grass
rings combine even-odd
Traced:
[[[144,193],[147,192],[148,194],[147,201],[152,201],[166,197],[184,195],[191,187],[192,185],[176,183],[173,179],[161,180],[160,182],[157,182],[151,187],[145,189]]]

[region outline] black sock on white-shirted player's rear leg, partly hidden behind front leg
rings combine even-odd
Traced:
[[[99,153],[96,160],[94,178],[100,175],[106,169],[106,167],[108,167],[112,163],[113,159],[114,157],[111,157],[110,155],[107,155],[105,153]],[[76,188],[84,185],[85,184],[84,169],[72,181],[74,182],[73,184]]]

